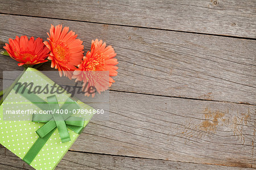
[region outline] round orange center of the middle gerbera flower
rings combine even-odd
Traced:
[[[56,59],[64,64],[68,63],[70,59],[67,44],[62,41],[56,41],[53,45],[55,46],[53,53],[55,53]]]

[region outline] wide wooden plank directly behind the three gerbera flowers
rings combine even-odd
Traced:
[[[111,90],[256,104],[254,40],[26,16],[0,18],[1,44],[15,35],[46,39],[50,24],[64,24],[84,40],[86,50],[96,38],[113,45],[119,69]],[[2,56],[0,62],[5,70],[10,69],[6,63],[14,61]],[[49,64],[41,69],[51,70]]]

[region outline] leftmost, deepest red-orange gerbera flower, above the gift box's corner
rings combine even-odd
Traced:
[[[9,53],[10,57],[15,59],[18,66],[36,65],[47,62],[46,57],[49,55],[48,48],[43,44],[43,39],[27,36],[16,36],[15,40],[9,39],[9,44],[3,47]]]

